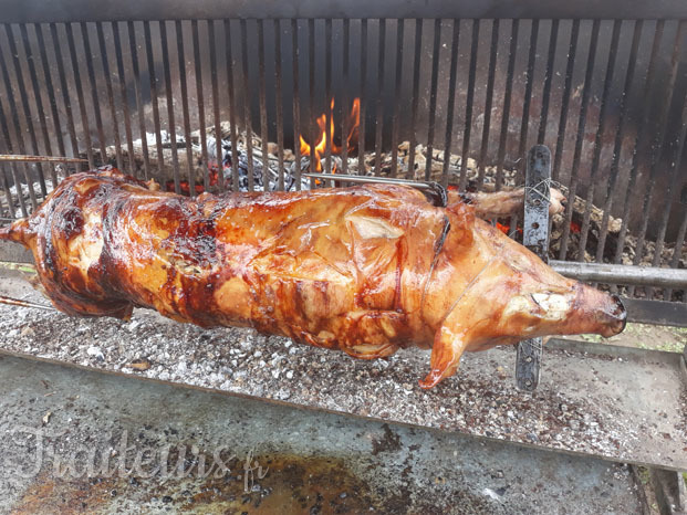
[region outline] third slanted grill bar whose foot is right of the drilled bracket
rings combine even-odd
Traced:
[[[621,96],[621,103],[618,106],[618,120],[617,130],[615,132],[615,141],[613,144],[613,158],[611,161],[611,170],[608,172],[608,187],[606,188],[606,199],[603,207],[603,218],[601,221],[601,230],[598,234],[598,244],[596,246],[596,262],[602,263],[604,256],[604,250],[606,246],[606,237],[608,234],[608,217],[613,207],[613,198],[615,192],[615,185],[618,178],[618,162],[621,159],[621,153],[623,150],[623,136],[625,134],[625,117],[627,116],[628,95],[634,81],[635,64],[637,61],[637,51],[639,48],[639,40],[642,38],[642,29],[644,27],[643,20],[635,22],[635,28],[632,36],[632,46],[629,50],[629,60],[627,61],[627,71],[625,72],[625,82],[623,85],[623,94]]]

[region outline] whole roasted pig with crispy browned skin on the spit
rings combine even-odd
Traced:
[[[116,170],[77,174],[0,238],[33,251],[65,313],[147,306],[357,358],[416,345],[433,349],[426,388],[465,350],[611,336],[625,320],[616,298],[556,274],[471,206],[437,208],[404,186],[189,199]]]

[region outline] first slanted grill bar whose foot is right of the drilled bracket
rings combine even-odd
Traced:
[[[594,62],[596,59],[596,43],[598,42],[600,21],[594,20],[592,25],[592,40],[590,42],[590,51],[586,62],[586,73],[584,74],[584,84],[582,92],[582,103],[580,105],[580,118],[577,119],[577,137],[575,140],[575,153],[573,155],[573,165],[571,170],[571,180],[569,189],[569,202],[565,206],[565,222],[563,224],[563,235],[561,237],[560,260],[565,260],[568,254],[568,241],[570,239],[570,222],[572,221],[573,207],[575,204],[575,195],[577,192],[580,158],[582,156],[582,144],[584,143],[584,128],[586,124],[586,111],[590,104],[590,95],[592,93],[592,73],[594,73]],[[579,252],[584,256],[584,249],[580,248]]]

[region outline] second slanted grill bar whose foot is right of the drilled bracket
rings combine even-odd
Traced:
[[[608,61],[606,64],[606,76],[604,78],[604,90],[601,95],[600,104],[600,120],[596,127],[596,136],[594,137],[594,155],[592,157],[592,169],[590,172],[590,183],[586,196],[586,204],[584,207],[584,216],[582,219],[582,230],[580,232],[580,252],[577,254],[577,261],[584,261],[584,249],[586,249],[586,241],[590,230],[590,216],[592,213],[592,203],[594,201],[594,190],[598,175],[598,161],[601,159],[601,150],[603,147],[603,135],[606,130],[606,123],[608,118],[608,94],[611,93],[611,84],[613,82],[613,71],[615,69],[615,57],[617,55],[617,44],[621,36],[621,21],[615,20],[613,22],[613,34],[611,36],[611,48],[608,49]],[[571,199],[574,201],[574,198]]]

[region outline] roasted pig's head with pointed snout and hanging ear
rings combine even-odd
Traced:
[[[490,227],[477,237],[476,254],[482,259],[435,335],[424,388],[451,376],[465,350],[538,336],[610,337],[625,328],[627,315],[617,295],[563,277]]]

